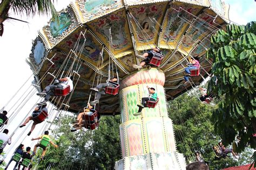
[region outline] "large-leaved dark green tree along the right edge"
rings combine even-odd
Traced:
[[[226,31],[219,30],[212,36],[212,47],[207,51],[214,63],[212,73],[218,78],[217,85],[210,81],[208,90],[224,98],[213,113],[214,127],[225,145],[238,139],[236,152],[247,144],[256,148],[252,136],[256,133],[255,34],[255,22],[227,25]]]

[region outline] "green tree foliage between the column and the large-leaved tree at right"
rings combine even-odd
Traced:
[[[199,99],[183,94],[170,101],[170,118],[173,120],[178,152],[183,153],[187,163],[196,161],[195,152],[199,151],[210,165],[210,169],[220,169],[238,165],[231,158],[215,160],[212,149],[220,141],[214,134],[210,120],[215,105],[200,104]]]

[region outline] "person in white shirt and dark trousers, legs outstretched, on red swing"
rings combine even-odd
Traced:
[[[44,101],[38,103],[38,105],[44,105],[46,101],[50,99],[51,96],[54,96],[55,88],[65,89],[66,86],[70,86],[70,92],[73,90],[73,76],[60,78],[54,84],[46,86],[41,93],[37,93],[37,96],[45,96]]]

